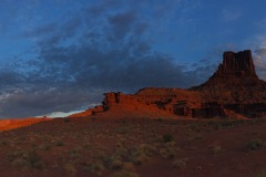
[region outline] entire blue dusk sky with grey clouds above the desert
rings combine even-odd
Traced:
[[[0,118],[86,110],[105,92],[195,86],[224,51],[250,49],[266,80],[265,7],[265,0],[0,0]]]

